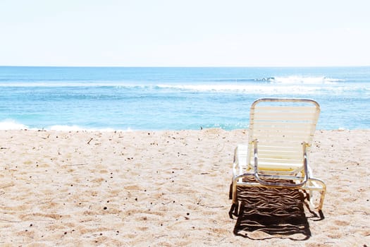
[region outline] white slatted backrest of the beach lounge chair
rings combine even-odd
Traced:
[[[249,120],[249,153],[253,166],[252,141],[258,141],[261,173],[302,169],[302,143],[312,144],[320,107],[314,100],[260,99],[252,104]],[[269,172],[271,171],[271,172]]]

